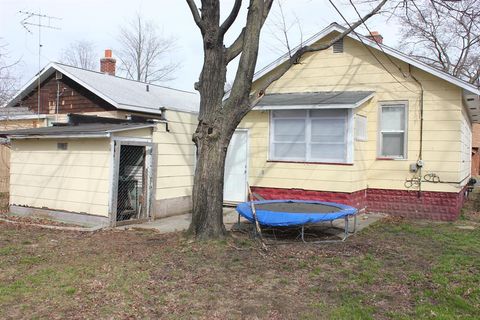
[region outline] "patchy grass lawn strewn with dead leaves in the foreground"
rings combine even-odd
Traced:
[[[263,254],[238,235],[0,223],[0,318],[479,319],[480,226],[386,220]]]

